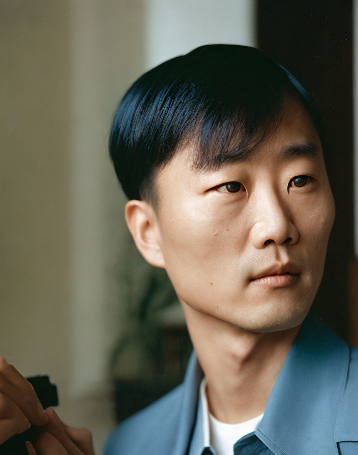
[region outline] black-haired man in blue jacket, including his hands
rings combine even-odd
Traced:
[[[110,138],[126,221],[165,268],[194,353],[106,455],[358,453],[357,351],[308,315],[335,215],[322,144],[308,92],[253,48],[203,46],[129,89]],[[92,455],[87,433],[34,413],[5,361],[0,375],[17,416],[6,437],[0,418],[3,440],[30,421],[45,425],[30,455]]]

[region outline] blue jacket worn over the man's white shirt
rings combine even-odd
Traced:
[[[105,455],[187,455],[189,448],[194,453],[202,375],[194,352],[184,382],[125,420]],[[358,348],[308,316],[255,434],[276,455],[357,455]]]

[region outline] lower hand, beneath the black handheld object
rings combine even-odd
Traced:
[[[26,442],[29,455],[95,455],[91,432],[65,425],[51,408],[46,409],[48,423],[34,446]]]

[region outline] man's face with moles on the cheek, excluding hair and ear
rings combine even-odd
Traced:
[[[160,246],[184,310],[254,332],[297,326],[335,216],[308,113],[291,100],[275,135],[218,171],[197,173],[190,159],[179,152],[156,178]]]

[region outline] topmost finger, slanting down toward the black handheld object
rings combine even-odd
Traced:
[[[3,357],[0,357],[0,392],[12,399],[32,424],[47,423],[34,387]]]

